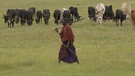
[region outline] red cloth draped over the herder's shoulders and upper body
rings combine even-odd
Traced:
[[[65,25],[60,32],[61,41],[70,40],[72,43],[74,42],[74,34],[69,24]]]

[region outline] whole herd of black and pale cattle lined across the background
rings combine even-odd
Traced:
[[[33,21],[37,24],[44,20],[45,25],[49,24],[50,19],[49,9],[36,10],[35,7],[31,7],[27,10],[25,9],[8,9],[6,14],[3,14],[4,22],[8,23],[8,27],[14,27],[14,23],[20,23],[21,25],[31,26]],[[69,7],[69,9],[61,8],[55,9],[53,12],[54,23],[59,24],[64,18],[67,18],[69,24],[72,25],[73,22],[81,20],[81,16],[78,13],[77,7]],[[124,20],[132,20],[133,25],[135,25],[135,10],[131,9],[129,3],[122,3],[121,8],[117,9],[115,13],[113,12],[112,5],[106,6],[103,3],[88,7],[88,17],[101,24],[104,20],[112,20],[122,26]]]

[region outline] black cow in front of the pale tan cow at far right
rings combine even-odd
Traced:
[[[122,26],[122,22],[123,20],[126,20],[126,14],[124,14],[120,9],[117,9],[115,12],[116,16],[115,16],[115,22],[117,23],[117,26],[119,25],[119,20],[121,22],[121,26]]]

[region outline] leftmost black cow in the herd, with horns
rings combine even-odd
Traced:
[[[4,22],[8,23],[8,27],[14,27],[16,12],[14,9],[8,9],[6,15],[4,15]]]

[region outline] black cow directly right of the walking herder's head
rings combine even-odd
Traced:
[[[79,16],[78,14],[78,9],[77,7],[69,7],[69,10],[70,10],[70,13],[71,13],[71,16],[72,16],[72,19],[74,17],[75,20],[79,20],[81,16]]]

